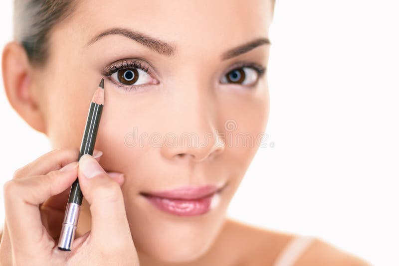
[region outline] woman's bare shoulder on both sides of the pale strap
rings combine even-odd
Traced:
[[[273,265],[297,235],[227,220],[223,231],[236,241],[239,257],[235,266]],[[234,239],[234,240],[233,240]],[[230,242],[231,243],[231,242]],[[293,266],[371,266],[366,261],[315,237]]]

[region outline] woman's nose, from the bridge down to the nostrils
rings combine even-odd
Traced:
[[[194,162],[214,158],[224,150],[225,143],[217,130],[217,111],[212,99],[193,90],[180,95],[173,97],[173,111],[169,114],[173,119],[168,119],[169,131],[164,135],[162,156]]]

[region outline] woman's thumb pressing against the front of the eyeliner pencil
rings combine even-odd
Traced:
[[[107,251],[127,242],[133,244],[120,185],[89,154],[79,160],[78,178],[90,205],[89,241]]]

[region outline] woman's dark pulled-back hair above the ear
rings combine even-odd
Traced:
[[[74,8],[75,0],[14,0],[14,39],[25,48],[32,64],[45,63],[51,29]]]

